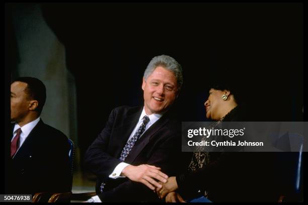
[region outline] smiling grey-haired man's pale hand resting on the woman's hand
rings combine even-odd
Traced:
[[[140,182],[155,191],[155,188],[161,188],[162,185],[155,179],[166,182],[168,176],[160,171],[160,167],[141,164],[139,166],[128,165],[123,170],[121,175],[128,177],[132,181]]]

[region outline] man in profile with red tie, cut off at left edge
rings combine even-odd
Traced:
[[[70,191],[66,136],[40,119],[45,85],[20,77],[11,84],[11,153],[6,193]]]

